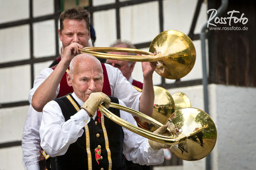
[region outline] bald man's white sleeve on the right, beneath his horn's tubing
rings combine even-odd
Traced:
[[[119,100],[120,105],[125,105]],[[131,113],[120,110],[120,118],[137,126]],[[161,164],[164,161],[163,149],[154,150],[148,144],[148,139],[122,127],[124,131],[123,154],[128,161],[141,165]]]

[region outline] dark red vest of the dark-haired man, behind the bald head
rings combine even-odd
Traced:
[[[101,63],[102,65],[102,70],[103,70],[103,76],[104,76],[104,83],[103,83],[103,87],[102,87],[102,93],[105,93],[108,96],[111,96],[111,88],[110,88],[110,84],[109,84],[109,80],[108,80],[108,72],[106,69],[105,64]],[[52,70],[54,70],[56,68],[56,66],[52,67]],[[69,68],[68,68],[69,69]],[[58,96],[56,98],[65,96],[69,93],[72,93],[73,87],[67,85],[67,72],[64,73],[63,77],[61,78],[61,82],[60,82],[60,91],[58,93]]]

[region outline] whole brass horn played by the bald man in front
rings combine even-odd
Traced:
[[[111,103],[110,107],[132,113],[134,116],[145,119],[157,127],[163,125],[151,117],[131,108],[116,103]],[[177,132],[172,136],[159,135],[132,125],[108,111],[108,109],[101,104],[99,105],[99,111],[113,122],[140,136],[144,136],[156,142],[172,145],[169,148],[172,153],[186,161],[196,161],[206,157],[214,148],[217,140],[217,130],[214,122],[207,113],[197,108],[182,108],[172,113],[168,120],[175,125]]]

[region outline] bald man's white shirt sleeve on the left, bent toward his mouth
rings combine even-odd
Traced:
[[[90,122],[84,109],[65,122],[61,108],[57,102],[48,102],[43,109],[40,127],[41,147],[49,156],[64,155],[70,144],[82,136],[83,127]]]

